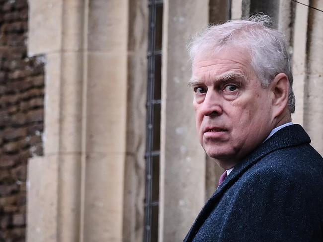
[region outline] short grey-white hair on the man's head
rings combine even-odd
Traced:
[[[293,75],[284,35],[269,28],[270,17],[255,15],[248,20],[229,20],[220,25],[209,26],[196,34],[189,44],[191,60],[204,51],[217,53],[229,45],[243,47],[250,51],[251,66],[261,86],[266,88],[279,73],[285,73],[289,80],[288,109],[295,111]]]

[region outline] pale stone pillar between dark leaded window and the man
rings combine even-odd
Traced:
[[[192,7],[194,6],[194,7]],[[182,241],[204,205],[205,153],[187,87],[186,44],[208,24],[207,0],[165,0],[162,47],[159,241]]]

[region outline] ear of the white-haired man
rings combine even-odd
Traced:
[[[286,111],[288,106],[289,81],[285,73],[279,73],[270,84],[274,118]]]

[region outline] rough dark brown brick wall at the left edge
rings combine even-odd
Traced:
[[[27,0],[0,0],[0,242],[23,242],[26,168],[41,156],[42,57],[27,57]]]

